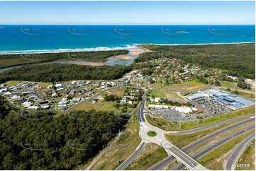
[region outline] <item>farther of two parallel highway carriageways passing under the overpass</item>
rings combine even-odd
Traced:
[[[236,124],[227,126],[223,129],[213,132],[212,134],[209,134],[208,136],[204,136],[203,138],[200,138],[198,141],[195,141],[194,143],[189,144],[188,146],[182,148],[182,151],[184,151],[185,153],[188,153],[189,151],[200,146],[201,144],[205,143],[206,141],[209,141],[212,138],[215,138],[216,136],[219,136],[219,135],[225,133],[226,131],[236,129],[240,126],[243,126],[244,124],[254,122],[254,121],[255,121],[255,118],[250,118],[250,119],[246,119],[242,122],[238,122]],[[174,158],[174,156],[170,155],[167,158],[165,158],[164,160],[162,160],[160,163],[157,163],[156,165],[150,167],[149,170],[165,170],[165,168],[168,167],[172,162],[174,162],[174,160],[176,160],[176,158]]]

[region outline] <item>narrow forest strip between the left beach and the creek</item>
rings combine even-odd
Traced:
[[[127,54],[128,50],[99,51],[99,52],[62,52],[43,54],[0,54],[0,69],[25,64],[38,64],[49,61],[81,60],[105,62],[108,57]]]

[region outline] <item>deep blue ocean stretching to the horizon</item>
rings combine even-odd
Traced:
[[[255,25],[0,25],[0,54],[255,42]]]

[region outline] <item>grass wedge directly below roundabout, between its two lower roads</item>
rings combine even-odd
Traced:
[[[155,143],[146,143],[145,151],[129,167],[126,167],[126,170],[148,170],[167,156],[164,148]]]

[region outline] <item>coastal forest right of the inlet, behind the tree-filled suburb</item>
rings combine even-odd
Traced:
[[[199,64],[203,69],[223,69],[232,76],[255,79],[255,44],[142,46],[154,52],[140,54],[136,62],[176,58]]]

